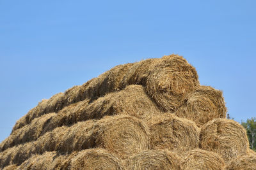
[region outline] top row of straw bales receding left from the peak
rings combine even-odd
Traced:
[[[199,84],[195,68],[179,55],[148,59],[141,61],[136,67],[133,65],[129,63],[113,67],[84,85],[72,87],[65,93],[56,94],[49,100],[43,100],[17,121],[13,131],[30,124],[36,117],[58,112],[63,107],[84,99],[90,99],[92,102],[109,92],[124,89],[131,83],[145,85],[147,93],[164,111],[173,111],[184,103],[186,95],[195,90]]]

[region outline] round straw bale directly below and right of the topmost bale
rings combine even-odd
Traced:
[[[220,90],[200,86],[175,112],[175,115],[193,120],[201,127],[214,118],[226,118],[227,108]]]

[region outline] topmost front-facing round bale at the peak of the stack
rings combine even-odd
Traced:
[[[164,111],[175,111],[198,87],[198,75],[183,57],[164,56],[147,78],[147,92]]]

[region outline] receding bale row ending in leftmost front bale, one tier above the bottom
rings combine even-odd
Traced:
[[[4,150],[0,153],[0,165],[19,165],[33,154],[53,151],[64,154],[94,147],[127,158],[148,149],[148,136],[147,126],[138,118],[118,115],[88,120],[71,127],[58,127],[36,141]]]

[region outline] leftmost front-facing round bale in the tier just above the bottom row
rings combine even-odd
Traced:
[[[95,145],[125,159],[148,149],[149,131],[138,118],[126,115],[102,118],[93,131]]]

